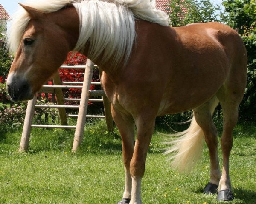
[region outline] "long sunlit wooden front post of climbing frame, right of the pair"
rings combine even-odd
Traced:
[[[90,59],[87,59],[85,73],[84,73],[83,89],[81,93],[81,101],[79,105],[79,112],[78,112],[78,118],[76,123],[76,132],[75,132],[73,148],[72,148],[73,152],[76,152],[76,150],[78,149],[79,144],[81,144],[83,135],[84,135],[84,125],[86,121],[86,113],[87,113],[88,102],[89,102],[88,91],[90,90],[90,85],[93,77],[93,67],[94,67],[93,62],[90,61]]]

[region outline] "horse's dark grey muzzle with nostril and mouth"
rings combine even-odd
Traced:
[[[29,82],[14,75],[7,79],[7,91],[13,102],[33,99],[34,96]]]

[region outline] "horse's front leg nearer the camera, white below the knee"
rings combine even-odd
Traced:
[[[130,164],[132,177],[130,204],[142,204],[140,196],[141,180],[145,172],[146,156],[154,131],[155,118],[139,116],[135,123],[137,126],[137,139]]]

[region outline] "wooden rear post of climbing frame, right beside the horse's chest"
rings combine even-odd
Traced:
[[[102,70],[99,68],[99,79],[102,76]],[[108,131],[111,133],[114,133],[114,123],[113,123],[113,118],[111,114],[111,102],[108,100],[107,96],[103,95],[103,106],[104,106],[104,112],[105,112],[105,117],[106,117],[106,123],[108,127]]]

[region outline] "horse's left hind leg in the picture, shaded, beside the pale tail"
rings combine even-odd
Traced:
[[[210,156],[210,181],[204,188],[204,193],[216,193],[221,178],[218,159],[217,129],[212,120],[212,113],[218,105],[218,99],[214,96],[208,102],[193,109],[195,120],[204,132]]]

